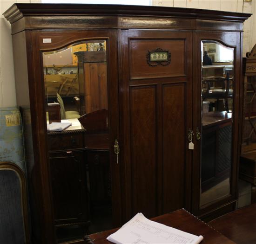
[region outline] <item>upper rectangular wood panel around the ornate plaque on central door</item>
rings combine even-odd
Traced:
[[[150,66],[148,51],[157,48],[171,53],[171,63]],[[185,39],[130,39],[129,40],[130,79],[185,76]]]

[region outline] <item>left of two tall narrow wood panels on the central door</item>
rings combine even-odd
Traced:
[[[151,217],[156,213],[155,86],[130,89],[130,129],[132,212]]]

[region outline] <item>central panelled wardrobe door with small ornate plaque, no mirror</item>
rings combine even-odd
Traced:
[[[126,218],[189,210],[192,34],[122,30],[119,39]]]

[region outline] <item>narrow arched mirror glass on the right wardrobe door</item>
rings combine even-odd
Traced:
[[[203,40],[201,208],[230,194],[234,49]]]

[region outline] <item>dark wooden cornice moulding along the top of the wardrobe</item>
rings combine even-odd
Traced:
[[[103,4],[40,4],[15,3],[4,17],[12,24],[25,16],[148,16],[185,19],[209,19],[244,22],[251,13],[235,13],[216,10]]]

